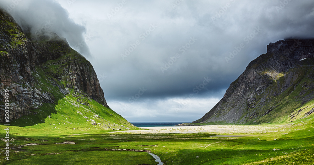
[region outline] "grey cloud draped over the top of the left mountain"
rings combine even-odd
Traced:
[[[86,29],[69,19],[68,12],[59,3],[51,0],[1,0],[0,6],[24,30],[30,29],[34,37],[56,33],[66,38],[73,49],[90,56],[83,37]]]

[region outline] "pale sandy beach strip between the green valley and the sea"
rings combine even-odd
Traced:
[[[127,133],[218,133],[237,134],[237,133],[267,133],[276,132],[276,126],[238,126],[238,125],[208,125],[208,126],[158,126],[140,127],[146,130],[115,131]]]

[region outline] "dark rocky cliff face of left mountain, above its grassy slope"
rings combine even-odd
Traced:
[[[107,106],[93,66],[64,39],[31,39],[14,19],[0,11],[0,123],[4,90],[9,90],[10,120],[30,115],[44,103],[56,103],[70,91]]]

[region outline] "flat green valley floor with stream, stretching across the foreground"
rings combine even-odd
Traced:
[[[2,129],[3,126],[0,126]],[[27,129],[27,128],[21,128]],[[314,122],[257,126],[146,127],[147,130],[12,134],[9,165],[314,164]],[[0,142],[3,153],[4,142]]]

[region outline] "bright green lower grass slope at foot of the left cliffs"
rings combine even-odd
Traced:
[[[12,121],[11,125],[16,126],[13,127],[13,131],[15,129],[24,130],[23,135],[25,136],[43,136],[60,133],[86,133],[98,129],[102,131],[126,130],[127,127],[138,129],[116,112],[94,100],[87,100],[88,105],[79,104],[76,100],[77,98],[67,95],[59,99],[56,105],[45,103],[39,109],[33,110],[36,115],[23,116]],[[101,117],[95,117],[96,114]],[[91,120],[101,124],[92,126]]]

